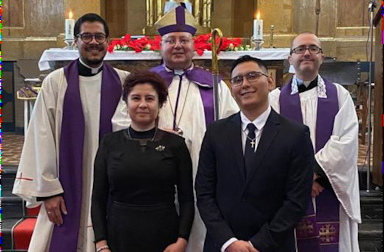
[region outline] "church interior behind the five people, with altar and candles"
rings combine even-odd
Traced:
[[[167,4],[183,2],[198,23],[197,35],[219,28],[237,47],[219,54],[219,71],[230,85],[230,68],[241,55],[266,60],[279,88],[293,76],[287,60],[292,39],[312,32],[326,56],[320,74],[351,94],[359,118],[358,172],[362,210],[361,252],[382,251],[383,236],[383,5],[371,0],[2,0],[1,249],[27,251],[38,209],[12,194],[24,135],[44,78],[76,58],[66,26],[86,13],[101,15],[111,41],[157,36],[155,22]],[[376,1],[374,1],[376,2]],[[371,17],[373,19],[371,20]],[[261,28],[257,25],[261,24]],[[371,27],[372,26],[372,27]],[[261,30],[260,30],[261,29]],[[258,33],[258,34],[256,34]],[[261,35],[260,35],[261,33]],[[237,40],[238,41],[238,40]],[[107,60],[123,70],[160,64],[158,50],[110,47]],[[194,63],[212,69],[210,52]],[[340,251],[348,252],[348,251]]]

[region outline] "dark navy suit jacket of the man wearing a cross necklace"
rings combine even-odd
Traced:
[[[237,113],[210,124],[204,136],[195,185],[204,252],[219,252],[232,237],[261,252],[294,252],[294,227],[311,198],[309,128],[272,109],[247,178],[241,134]]]

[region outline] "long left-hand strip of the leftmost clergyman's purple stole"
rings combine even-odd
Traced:
[[[63,103],[59,150],[59,180],[68,210],[63,225],[54,226],[50,252],[76,251],[80,228],[83,179],[84,114],[81,104],[78,61],[64,68],[68,87]],[[63,246],[65,244],[65,246]]]

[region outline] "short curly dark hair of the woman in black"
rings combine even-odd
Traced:
[[[164,79],[157,73],[142,70],[128,75],[123,85],[123,100],[127,103],[128,95],[136,85],[151,84],[159,96],[160,108],[164,105],[168,97],[168,88]]]

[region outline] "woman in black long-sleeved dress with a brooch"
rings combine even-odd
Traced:
[[[124,83],[131,126],[105,136],[95,159],[91,217],[99,252],[187,247],[194,217],[192,162],[182,137],[157,128],[167,95],[161,77],[148,71]]]

